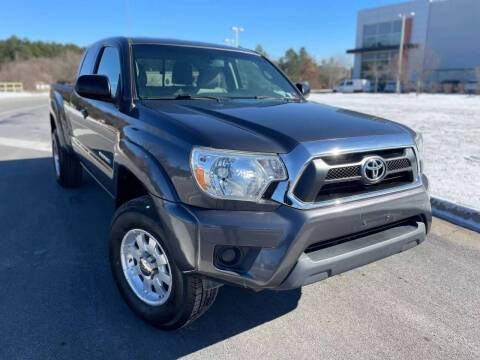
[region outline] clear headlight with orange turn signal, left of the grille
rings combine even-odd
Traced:
[[[200,189],[219,199],[257,201],[272,182],[287,179],[276,155],[194,148],[190,165]]]

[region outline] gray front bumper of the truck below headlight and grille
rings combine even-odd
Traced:
[[[272,212],[207,210],[155,198],[170,251],[185,272],[260,289],[291,289],[404,251],[420,244],[431,225],[428,181],[417,188],[338,206]],[[305,253],[312,244],[395,226]],[[215,266],[218,246],[256,248],[247,271]],[[258,255],[257,255],[258,254]]]

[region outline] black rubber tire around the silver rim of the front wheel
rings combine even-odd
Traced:
[[[206,280],[178,269],[155,211],[149,196],[128,201],[116,211],[110,228],[110,266],[122,297],[136,315],[158,328],[175,330],[204,314],[215,301],[218,288],[207,288]],[[155,237],[168,259],[172,288],[164,304],[154,306],[142,301],[125,278],[120,249],[124,235],[132,229],[144,230]]]

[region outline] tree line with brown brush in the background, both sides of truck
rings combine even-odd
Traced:
[[[261,45],[255,50],[269,57]],[[73,83],[84,51],[85,48],[74,44],[30,41],[16,36],[0,40],[0,82],[23,82],[27,90],[35,89],[37,83]],[[345,58],[337,56],[317,62],[305,47],[298,51],[288,49],[274,62],[293,81],[307,81],[312,89],[331,88],[350,76]]]

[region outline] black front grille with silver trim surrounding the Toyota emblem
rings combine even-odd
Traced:
[[[364,159],[379,156],[385,161],[381,182],[368,184],[362,176]],[[297,199],[318,203],[387,190],[416,181],[417,162],[412,148],[342,154],[311,160],[293,189]]]

